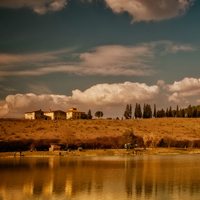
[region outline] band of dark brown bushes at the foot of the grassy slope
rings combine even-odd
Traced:
[[[12,141],[1,141],[0,151],[28,151],[48,150],[52,143],[59,143],[58,139],[43,139],[43,140],[12,140]],[[119,137],[97,137],[95,139],[88,140],[74,140],[68,146],[71,149],[77,149],[82,147],[83,149],[122,149],[124,148],[124,138]],[[156,145],[153,138],[149,138],[148,141],[144,142],[142,137],[134,137],[134,144],[137,147],[177,147],[177,148],[200,148],[200,140],[175,140],[171,138],[162,138]]]

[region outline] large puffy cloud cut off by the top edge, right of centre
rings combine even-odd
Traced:
[[[193,0],[105,0],[114,13],[127,12],[132,22],[161,21],[184,15]]]

